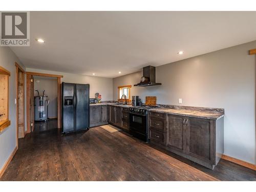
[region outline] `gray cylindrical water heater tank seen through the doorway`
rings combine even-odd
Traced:
[[[48,96],[35,96],[35,121],[47,121],[48,120]]]

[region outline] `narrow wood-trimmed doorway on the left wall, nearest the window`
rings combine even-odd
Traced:
[[[16,129],[17,138],[23,138],[25,132],[25,71],[15,62],[16,66]]]

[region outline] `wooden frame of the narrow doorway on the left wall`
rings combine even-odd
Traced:
[[[16,66],[16,145],[18,147],[18,72],[19,71],[22,71],[22,74],[24,75],[24,86],[23,86],[23,94],[24,94],[24,97],[23,97],[23,110],[24,110],[24,137],[26,135],[26,132],[25,132],[25,70],[20,67],[20,65],[18,65],[17,62],[14,63],[14,65]]]

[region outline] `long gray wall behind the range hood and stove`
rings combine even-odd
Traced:
[[[224,153],[256,164],[255,154],[255,55],[256,41],[156,68],[161,86],[132,87],[131,95],[157,96],[159,104],[205,106],[225,109]],[[142,72],[113,79],[117,87],[136,84]]]

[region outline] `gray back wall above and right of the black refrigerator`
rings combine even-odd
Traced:
[[[31,68],[27,68],[27,71],[63,75],[63,78],[61,78],[62,82],[89,83],[90,98],[95,98],[94,96],[95,93],[100,93],[102,96],[102,101],[113,99],[113,95],[112,95],[113,79],[112,78],[77,75],[72,73],[61,73],[56,71],[46,71],[46,70],[38,70],[38,69],[31,69]]]

